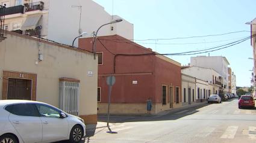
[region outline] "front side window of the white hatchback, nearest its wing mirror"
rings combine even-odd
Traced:
[[[36,105],[41,117],[57,117],[60,118],[60,112],[47,105]]]

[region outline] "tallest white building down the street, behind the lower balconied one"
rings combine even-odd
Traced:
[[[190,57],[191,66],[200,66],[203,68],[212,68],[217,71],[223,80],[223,90],[228,92],[228,65],[229,62],[226,57],[222,56],[197,56]]]

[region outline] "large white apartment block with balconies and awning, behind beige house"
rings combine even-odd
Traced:
[[[7,7],[5,30],[40,34],[43,38],[67,45],[72,45],[73,39],[81,32],[92,36],[101,25],[119,18],[111,16],[92,0],[0,0],[0,5],[4,4]],[[133,24],[123,20],[106,25],[98,32],[98,36],[115,34],[133,39]],[[74,45],[77,43],[78,40]]]

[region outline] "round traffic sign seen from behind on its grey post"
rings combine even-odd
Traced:
[[[112,130],[109,127],[111,89],[115,82],[116,82],[116,78],[113,75],[107,77],[107,85],[108,85],[108,121],[107,121],[107,126],[108,126],[108,130],[109,130],[107,133],[117,133],[117,132],[112,132]]]

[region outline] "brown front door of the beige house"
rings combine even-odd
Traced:
[[[31,100],[31,80],[8,78],[7,99]]]

